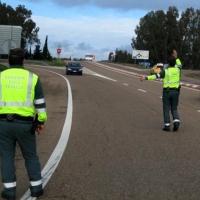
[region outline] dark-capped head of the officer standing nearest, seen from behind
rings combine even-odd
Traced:
[[[24,50],[21,48],[10,49],[8,62],[10,65],[23,65],[25,58]]]

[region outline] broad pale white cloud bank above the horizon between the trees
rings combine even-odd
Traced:
[[[40,27],[41,47],[48,35],[52,56],[56,56],[57,46],[61,45],[63,57],[83,58],[85,54],[95,54],[97,60],[107,59],[109,52],[116,48],[130,46],[139,23],[139,20],[113,16],[75,16],[68,19],[32,16],[32,19]]]

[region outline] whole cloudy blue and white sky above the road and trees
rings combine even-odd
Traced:
[[[131,38],[140,18],[150,11],[167,11],[175,6],[179,14],[187,8],[200,9],[199,0],[1,0],[16,8],[24,5],[40,28],[41,49],[46,35],[52,56],[84,58],[94,54],[105,60],[118,48],[132,53]],[[32,47],[33,50],[35,47]]]

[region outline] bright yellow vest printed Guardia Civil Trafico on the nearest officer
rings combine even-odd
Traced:
[[[37,112],[34,107],[37,80],[36,74],[21,68],[10,68],[1,72],[0,114],[34,117],[35,113],[38,113],[39,121],[45,121],[47,118],[46,109]]]

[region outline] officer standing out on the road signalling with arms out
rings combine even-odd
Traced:
[[[179,114],[177,111],[180,93],[180,75],[181,69],[176,67],[176,58],[169,58],[169,67],[158,74],[140,77],[141,81],[155,80],[163,78],[163,115],[164,131],[170,131],[170,110],[173,117],[173,131],[177,131],[180,125]]]

